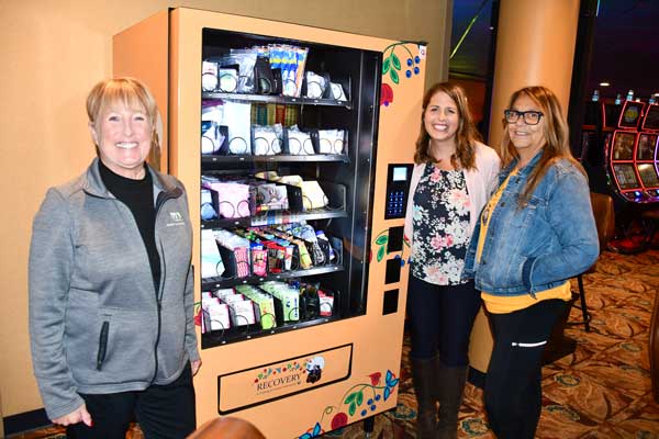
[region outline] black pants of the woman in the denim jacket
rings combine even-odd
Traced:
[[[533,439],[541,410],[541,361],[566,302],[541,301],[510,314],[490,314],[494,349],[485,378],[485,410],[499,439]]]

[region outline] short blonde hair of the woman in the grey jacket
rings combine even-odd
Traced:
[[[142,106],[152,125],[152,148],[158,148],[156,126],[158,122],[158,106],[148,88],[135,78],[112,78],[98,82],[87,95],[87,116],[89,124],[96,126],[101,113],[110,105],[124,104],[129,108]],[[99,154],[98,145],[97,155]]]

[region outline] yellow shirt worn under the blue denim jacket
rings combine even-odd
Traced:
[[[492,217],[492,212],[496,207],[496,204],[501,199],[501,194],[505,190],[505,187],[507,185],[511,176],[515,175],[517,175],[517,168],[513,169],[513,171],[507,176],[503,183],[501,183],[501,187],[492,195],[492,198],[485,205],[485,209],[483,209],[483,213],[481,214],[480,218],[480,235],[478,237],[478,246],[476,248],[477,262],[480,262],[480,258],[483,252],[483,245],[485,243],[485,237],[488,236],[488,227],[490,226],[490,218]],[[506,314],[512,313],[514,311],[527,308],[540,301],[548,301],[550,299],[560,299],[563,301],[569,301],[570,299],[572,299],[572,291],[570,288],[570,281],[566,281],[566,283],[561,285],[536,293],[535,299],[530,296],[530,294],[501,296],[489,294],[484,291],[481,293],[481,299],[483,300],[488,312],[492,314]]]

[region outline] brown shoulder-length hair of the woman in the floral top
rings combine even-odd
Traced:
[[[431,155],[431,136],[425,128],[424,115],[431,99],[438,92],[448,94],[458,108],[458,131],[456,132],[456,153],[450,157],[450,162],[456,168],[476,169],[476,143],[481,140],[480,133],[473,125],[473,117],[469,111],[469,101],[465,90],[453,82],[438,82],[431,87],[423,97],[423,112],[421,114],[421,131],[416,139],[414,162],[431,164],[435,159]]]

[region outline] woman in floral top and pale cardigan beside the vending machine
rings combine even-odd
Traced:
[[[405,217],[417,438],[457,435],[469,335],[481,305],[473,282],[460,273],[500,164],[479,138],[459,86],[437,83],[425,93]]]

